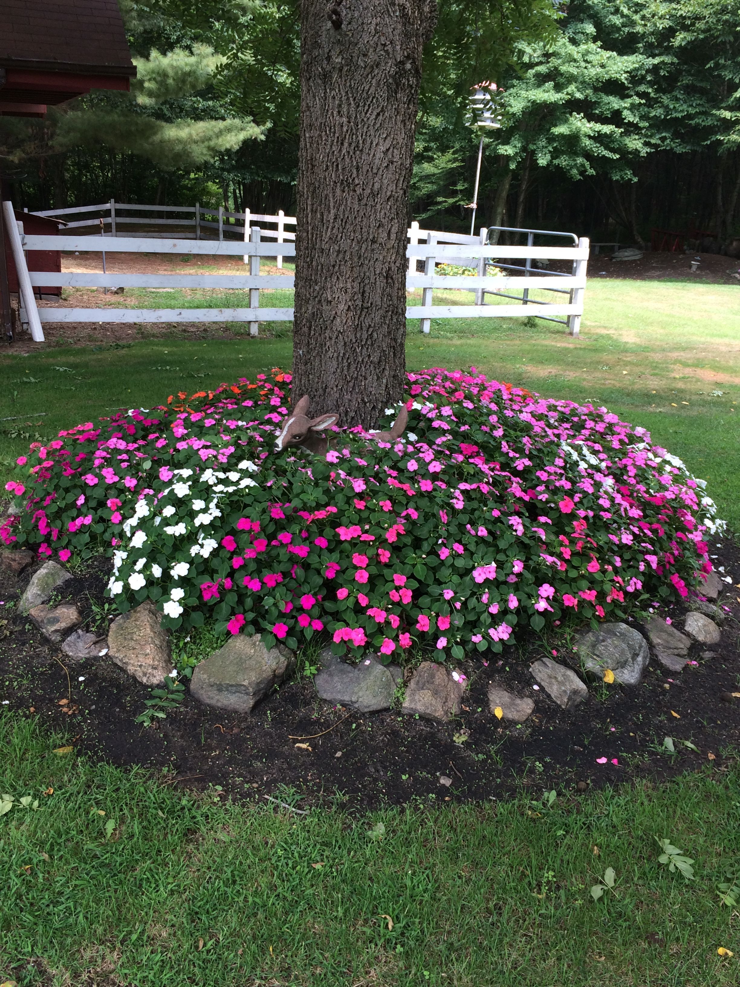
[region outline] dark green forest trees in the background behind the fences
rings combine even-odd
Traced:
[[[138,68],[130,95],[94,93],[45,119],[0,118],[16,204],[112,196],[292,213],[296,0],[228,0],[215,18],[194,0],[120,5]],[[473,14],[442,0],[440,17],[465,28],[438,31],[426,57],[409,218],[438,229],[470,223],[478,134],[466,94],[499,31],[490,4]],[[465,43],[445,42],[461,35]],[[522,35],[530,40],[514,44],[494,80],[502,125],[485,137],[479,223],[640,246],[652,228],[681,230],[703,250],[736,255],[736,0],[575,0],[542,40]]]

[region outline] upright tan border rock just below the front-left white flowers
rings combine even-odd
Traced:
[[[159,685],[172,670],[170,639],[161,621],[147,600],[116,617],[108,632],[112,660],[144,685]]]

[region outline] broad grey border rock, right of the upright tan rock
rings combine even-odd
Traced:
[[[251,713],[294,665],[295,655],[287,647],[267,650],[259,634],[239,634],[195,666],[190,693],[217,710]]]

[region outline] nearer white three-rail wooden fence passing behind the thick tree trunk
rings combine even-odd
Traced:
[[[91,323],[165,323],[165,322],[248,322],[250,334],[257,336],[260,322],[287,322],[293,319],[292,308],[267,308],[259,306],[259,290],[263,288],[291,289],[294,278],[288,274],[262,274],[259,271],[262,258],[273,258],[273,242],[264,242],[262,230],[252,227],[248,243],[226,239],[219,241],[193,241],[169,239],[143,239],[141,237],[100,236],[37,236],[24,235],[23,224],[16,223],[9,202],[6,208],[7,226],[16,265],[19,266],[21,296],[32,336],[43,341],[42,323],[91,322]],[[158,207],[159,208],[159,207]],[[274,236],[275,231],[268,231]],[[570,236],[572,234],[560,234]],[[408,230],[407,289],[421,289],[421,304],[407,307],[407,319],[419,319],[422,332],[428,333],[432,319],[469,319],[491,316],[536,316],[567,325],[571,336],[577,336],[583,313],[583,292],[586,286],[586,265],[589,242],[581,238],[569,247],[501,246],[487,244],[487,231],[478,237],[463,234],[447,234],[422,230],[414,224]],[[530,240],[532,238],[529,238]],[[414,242],[415,241],[415,242]],[[423,242],[419,242],[423,241]],[[249,274],[115,274],[62,271],[26,270],[24,251],[53,250],[77,252],[105,252],[126,254],[208,255],[215,257],[244,256],[249,259]],[[284,243],[285,257],[295,256],[295,244]],[[464,250],[464,254],[462,251]],[[487,263],[495,262],[500,268],[522,270],[521,274],[489,274]],[[509,264],[507,262],[519,262]],[[533,261],[565,261],[571,265],[571,273],[544,272],[531,267]],[[418,271],[417,262],[423,262]],[[478,273],[469,275],[437,274],[437,264],[477,266]],[[136,288],[220,288],[249,290],[249,308],[184,308],[184,309],[135,309],[135,308],[37,308],[34,288],[46,286],[66,287],[136,287]],[[567,295],[567,301],[545,302],[529,298],[533,288]],[[474,291],[474,305],[434,305],[434,290]],[[512,295],[521,291],[521,296]],[[512,298],[517,304],[489,304],[486,296]]]

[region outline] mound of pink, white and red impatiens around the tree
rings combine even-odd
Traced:
[[[273,451],[289,401],[273,370],[35,443],[0,536],[62,562],[111,554],[118,609],[152,600],[171,628],[292,647],[326,633],[389,661],[619,619],[711,569],[703,481],[604,408],[475,368],[409,373],[403,437],[334,429],[324,458]]]

